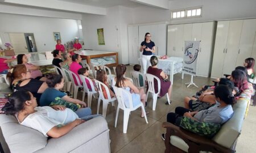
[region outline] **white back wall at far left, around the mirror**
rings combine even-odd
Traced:
[[[77,20],[3,13],[0,13],[0,19],[0,37],[3,44],[10,42],[9,32],[34,33],[38,52],[55,49],[53,32],[60,32],[63,43],[76,36],[80,37]]]

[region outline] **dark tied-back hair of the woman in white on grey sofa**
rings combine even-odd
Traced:
[[[25,107],[25,102],[31,100],[31,93],[29,91],[19,90],[11,94],[9,101],[2,108],[2,111],[7,115],[14,115],[22,111]]]

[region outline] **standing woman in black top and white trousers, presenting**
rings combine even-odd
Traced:
[[[142,67],[143,67],[143,74],[146,74],[147,67],[150,66],[150,58],[152,53],[155,53],[155,43],[151,41],[150,33],[145,34],[144,41],[141,42],[141,48],[139,51],[143,51],[142,53]]]

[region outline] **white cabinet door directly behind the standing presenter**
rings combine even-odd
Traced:
[[[151,41],[155,42],[155,47],[158,46],[158,25],[139,25],[139,46],[141,46],[141,42],[144,41],[145,34],[149,32],[151,35]],[[156,53],[157,54],[157,53]],[[139,57],[142,56],[142,52],[140,52]]]

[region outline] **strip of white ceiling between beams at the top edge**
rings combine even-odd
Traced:
[[[95,6],[95,7],[102,7],[102,8],[108,8],[113,6],[125,6],[125,7],[131,7],[131,8],[145,6],[141,3],[133,2],[130,0],[59,0],[59,1]]]

